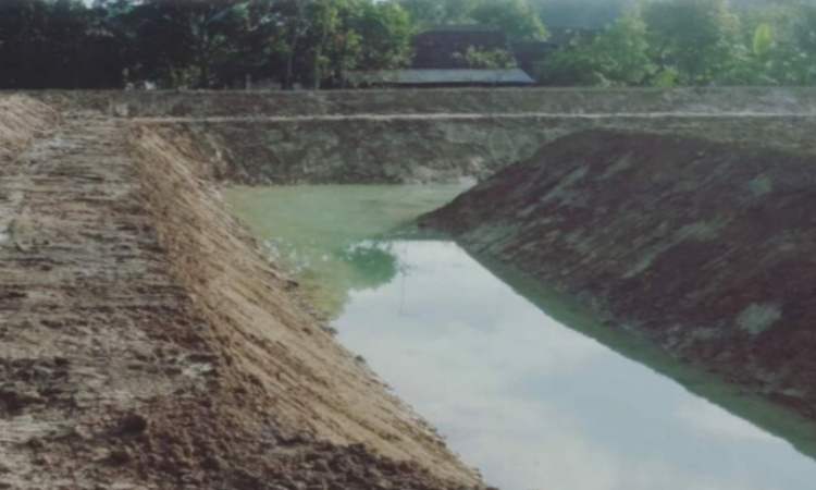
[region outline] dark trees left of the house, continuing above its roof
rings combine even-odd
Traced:
[[[407,65],[413,34],[456,22],[546,35],[523,0],[3,0],[0,88],[337,87]]]

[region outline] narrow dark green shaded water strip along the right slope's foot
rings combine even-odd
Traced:
[[[800,453],[816,460],[816,422],[744,388],[719,380],[702,367],[671,357],[638,332],[610,328],[606,324],[610,321],[608,318],[590,311],[574,298],[541,284],[512,266],[462,248],[517,294],[564,326],[673,379],[691,393],[784,439]]]

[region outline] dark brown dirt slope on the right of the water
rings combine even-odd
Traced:
[[[577,133],[422,218],[816,418],[816,157]]]

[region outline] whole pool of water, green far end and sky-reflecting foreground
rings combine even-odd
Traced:
[[[546,302],[522,296],[456,244],[406,228],[462,191],[298,186],[226,194],[333,318],[339,341],[492,485],[816,488],[816,463],[791,443],[565,327],[546,311],[564,315],[540,308]]]

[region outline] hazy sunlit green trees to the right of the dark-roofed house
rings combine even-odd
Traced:
[[[634,4],[539,63],[544,85],[814,85],[816,3],[665,0]]]

